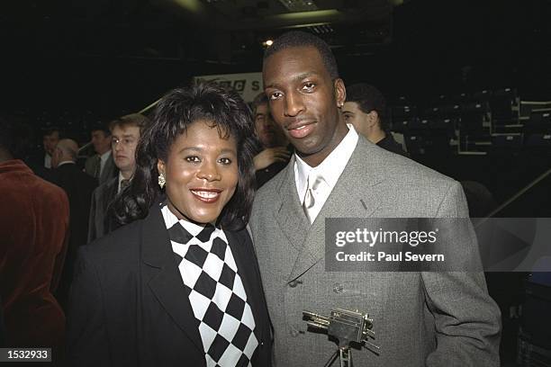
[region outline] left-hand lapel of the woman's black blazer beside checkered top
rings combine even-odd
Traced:
[[[185,292],[158,203],[149,210],[142,229],[142,261],[152,275],[148,286],[170,318],[203,354],[198,321]]]

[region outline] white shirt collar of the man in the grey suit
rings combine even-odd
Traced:
[[[358,139],[354,126],[349,123],[347,126],[347,135],[340,140],[339,145],[334,148],[332,152],[330,152],[330,155],[327,156],[319,166],[308,166],[308,164],[304,162],[301,157],[298,157],[296,152],[294,153],[294,177],[296,191],[298,192],[301,200],[303,200],[303,197],[306,194],[308,175],[310,175],[312,171],[323,176],[325,182],[329,185],[330,190],[333,190],[333,187],[335,187],[337,181],[339,181],[342,171],[344,171],[345,166],[348,164],[348,160],[352,157],[354,149],[356,149]]]

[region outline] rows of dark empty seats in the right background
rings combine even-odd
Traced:
[[[514,88],[441,94],[424,108],[401,97],[391,107],[391,119],[413,156],[551,148],[551,102],[524,101]]]

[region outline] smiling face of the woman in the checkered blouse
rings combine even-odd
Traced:
[[[178,136],[158,172],[167,180],[168,209],[178,219],[215,221],[238,184],[237,142],[222,139],[211,121],[195,121]]]

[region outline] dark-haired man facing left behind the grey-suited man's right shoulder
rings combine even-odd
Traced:
[[[386,102],[375,86],[365,83],[347,88],[347,101],[342,108],[344,121],[354,126],[367,140],[393,153],[408,157],[402,145],[394,140],[386,122]]]

